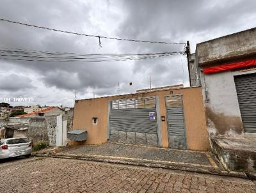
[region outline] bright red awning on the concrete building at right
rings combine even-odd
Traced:
[[[227,65],[220,65],[220,66],[213,66],[213,67],[208,67],[208,68],[203,68],[204,73],[209,74],[209,73],[216,73],[216,72],[223,72],[227,70],[233,70],[237,68],[244,68],[248,66],[253,66],[256,65],[256,59],[250,59],[246,61],[240,61],[238,63],[230,63]]]

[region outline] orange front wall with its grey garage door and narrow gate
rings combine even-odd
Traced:
[[[73,130],[86,144],[109,141],[208,150],[202,88],[171,86],[128,95],[76,100]]]

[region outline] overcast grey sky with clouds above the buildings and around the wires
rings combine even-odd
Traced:
[[[196,43],[256,26],[256,1],[21,1],[1,0],[0,18],[92,35],[149,41]],[[0,22],[0,47],[56,52],[151,53],[183,50],[182,45],[99,40]],[[184,84],[184,56],[108,63],[47,63],[0,59],[0,102],[12,105],[74,106],[77,99],[134,93],[136,89]],[[120,87],[118,89],[118,82]],[[132,82],[132,86],[129,86]]]

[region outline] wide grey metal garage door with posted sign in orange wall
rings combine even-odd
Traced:
[[[109,140],[157,146],[156,98],[112,100]]]

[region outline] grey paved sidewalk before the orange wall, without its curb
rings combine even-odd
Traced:
[[[63,148],[61,154],[99,155],[112,158],[132,158],[151,162],[172,162],[191,166],[218,167],[208,152],[174,150],[124,143],[74,146]]]

